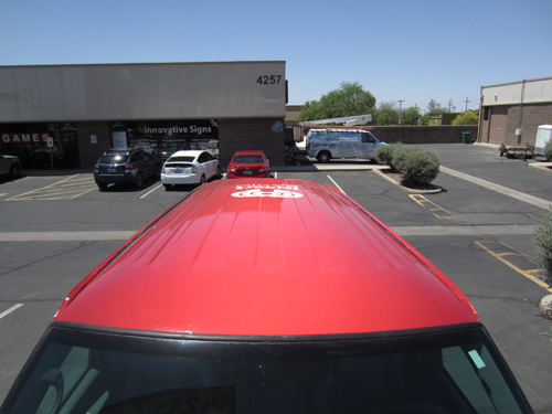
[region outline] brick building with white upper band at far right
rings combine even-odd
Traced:
[[[479,142],[534,145],[539,125],[552,124],[552,77],[481,86]]]

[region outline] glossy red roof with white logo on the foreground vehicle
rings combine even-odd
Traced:
[[[437,268],[319,182],[215,181],[142,233],[68,295],[56,321],[297,336],[478,320]]]

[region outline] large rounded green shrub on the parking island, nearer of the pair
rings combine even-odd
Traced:
[[[440,160],[432,149],[412,147],[393,158],[397,171],[407,183],[428,184],[439,172]]]

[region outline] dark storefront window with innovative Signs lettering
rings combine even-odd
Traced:
[[[178,150],[204,149],[219,156],[219,125],[214,119],[113,123],[114,147],[138,147],[166,160]]]

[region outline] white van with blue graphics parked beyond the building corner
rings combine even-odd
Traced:
[[[311,129],[307,135],[307,153],[320,162],[332,158],[373,159],[381,142],[372,132],[364,129]]]

